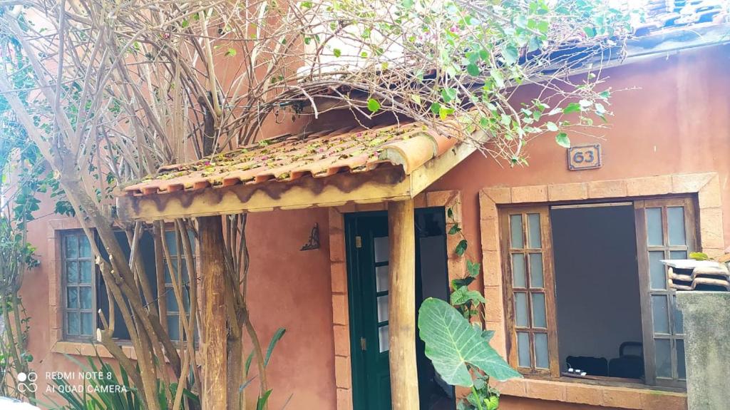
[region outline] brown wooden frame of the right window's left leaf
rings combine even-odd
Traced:
[[[507,358],[510,364],[517,368],[521,374],[534,375],[534,376],[547,376],[550,378],[560,377],[560,362],[558,356],[558,333],[557,333],[557,319],[556,319],[556,301],[555,301],[555,274],[553,268],[553,243],[552,243],[552,231],[550,229],[550,214],[549,206],[510,206],[499,210],[499,221],[500,221],[500,239],[502,244],[509,244],[510,246],[502,246],[502,272],[503,278],[503,292],[504,292],[504,309],[505,309],[505,325],[506,325],[506,339],[507,339]],[[523,235],[523,247],[513,248],[511,231],[510,231],[510,217],[515,214],[522,215],[522,235]],[[540,219],[540,248],[529,247],[529,226],[528,226],[528,214],[539,214]],[[529,263],[529,254],[531,253],[542,254],[542,292],[534,292],[531,288],[531,271]],[[524,292],[528,295],[527,297],[527,309],[529,316],[528,328],[523,328],[516,325],[515,318],[515,287],[512,286],[512,255],[521,253],[525,258],[525,279],[526,287],[517,288],[517,292]],[[542,331],[542,328],[533,328],[533,309],[532,309],[532,293],[544,293],[545,294],[545,319],[547,321],[548,328]],[[536,330],[538,329],[538,330]],[[530,341],[530,367],[520,367],[518,365],[518,341],[517,332],[529,333]],[[548,334],[548,360],[549,368],[537,368],[536,357],[534,349],[534,333],[547,333]]]

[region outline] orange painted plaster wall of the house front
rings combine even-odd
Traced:
[[[656,174],[717,171],[723,187],[726,242],[730,244],[730,47],[687,51],[606,71],[615,93],[612,127],[601,141],[604,166],[567,171],[564,149],[551,137],[531,142],[530,166],[506,169],[476,154],[429,190],[461,190],[469,257],[480,260],[477,193],[494,185],[579,182]],[[281,134],[281,133],[276,133]],[[595,139],[571,135],[574,144]],[[50,212],[46,204],[43,215]],[[32,317],[33,368],[74,370],[62,355],[50,353],[48,280],[55,274],[47,260],[47,220],[30,224],[30,240],[39,247],[41,268],[31,271],[22,290]],[[320,250],[300,252],[314,223],[320,225]],[[326,209],[253,214],[249,241],[253,258],[250,282],[253,320],[265,341],[278,327],[287,333],[274,353],[271,384],[274,408],[291,394],[288,409],[335,409],[334,346]],[[45,385],[41,385],[41,390]],[[558,403],[505,398],[510,409],[588,409]],[[597,408],[596,408],[597,409]],[[601,408],[606,409],[606,408]]]

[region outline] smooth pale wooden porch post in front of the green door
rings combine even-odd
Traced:
[[[390,331],[393,410],[419,409],[415,361],[415,229],[413,200],[388,203],[391,242]]]

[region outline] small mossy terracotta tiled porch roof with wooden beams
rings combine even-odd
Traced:
[[[124,187],[118,213],[169,220],[412,198],[476,150],[456,123],[448,125],[453,135],[410,123],[281,136],[165,166]]]

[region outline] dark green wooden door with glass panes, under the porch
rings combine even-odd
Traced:
[[[388,216],[351,214],[345,217],[345,226],[353,405],[356,410],[388,410]]]

